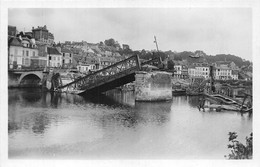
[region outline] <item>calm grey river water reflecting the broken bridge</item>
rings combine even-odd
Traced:
[[[199,111],[198,97],[135,102],[133,92],[84,98],[8,90],[11,159],[224,159],[228,132],[252,132],[252,116]]]

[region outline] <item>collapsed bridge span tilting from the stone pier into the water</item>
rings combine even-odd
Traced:
[[[61,92],[77,90],[81,94],[85,92],[101,93],[134,81],[135,72],[140,69],[141,63],[139,57],[135,55],[82,78],[78,78],[66,85],[58,86],[56,90]]]

